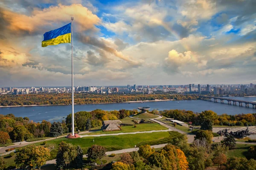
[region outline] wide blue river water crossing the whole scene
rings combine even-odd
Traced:
[[[229,97],[234,98],[234,97]],[[236,97],[234,99],[242,101],[256,101],[256,97]],[[212,100],[213,101],[213,100]],[[232,103],[233,104],[233,103]],[[140,104],[128,104],[128,103],[113,103],[113,104],[82,104],[75,105],[75,112],[79,111],[92,111],[95,109],[102,110],[119,110],[119,109],[137,109],[137,107],[150,107],[152,109],[165,110],[165,109],[185,109],[192,110],[193,112],[202,112],[204,110],[212,110],[218,115],[227,113],[229,115],[235,115],[239,113],[256,113],[256,109],[249,105],[249,108],[239,106],[228,105],[227,101],[224,104],[202,101],[202,100],[185,100],[185,101],[155,101],[145,102]],[[7,115],[9,113],[14,114],[16,117],[28,117],[30,120],[39,122],[47,120],[50,122],[61,121],[71,113],[71,105],[61,106],[31,106],[31,107],[0,107],[0,114]]]

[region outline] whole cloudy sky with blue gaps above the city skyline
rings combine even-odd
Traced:
[[[255,0],[0,0],[0,86],[256,84]]]

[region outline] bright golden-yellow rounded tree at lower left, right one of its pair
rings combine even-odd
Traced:
[[[33,150],[32,164],[34,167],[38,167],[41,170],[41,166],[46,164],[46,161],[50,157],[50,150],[48,148],[38,146]]]

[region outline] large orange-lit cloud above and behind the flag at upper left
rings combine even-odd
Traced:
[[[42,26],[52,23],[69,22],[70,16],[76,20],[76,28],[79,31],[96,29],[94,25],[100,23],[99,17],[81,4],[65,6],[51,6],[47,9],[34,9],[31,16],[17,14],[8,10],[3,10],[3,17],[10,22],[9,30],[15,33],[26,31],[29,33],[40,30]]]

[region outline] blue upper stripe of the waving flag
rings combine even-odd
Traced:
[[[61,28],[44,33],[44,41],[51,40],[52,38],[56,38],[60,35],[65,35],[68,33],[71,33],[71,23],[62,26]]]

